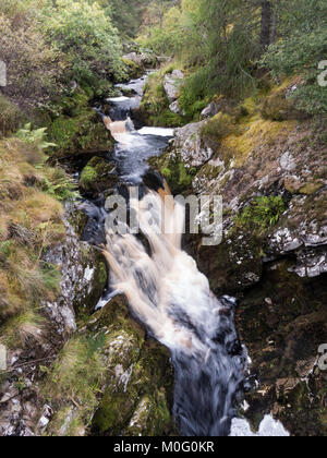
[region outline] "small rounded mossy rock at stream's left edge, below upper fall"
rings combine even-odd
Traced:
[[[114,188],[118,183],[116,164],[101,157],[94,157],[82,170],[80,189],[87,194],[98,193]]]

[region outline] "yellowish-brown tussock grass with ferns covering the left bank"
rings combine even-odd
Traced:
[[[58,296],[61,274],[43,253],[63,240],[60,201],[74,195],[65,172],[46,165],[45,130],[17,136],[0,141],[0,341],[10,348],[46,333],[41,304]]]

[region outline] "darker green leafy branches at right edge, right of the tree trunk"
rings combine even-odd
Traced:
[[[301,74],[303,84],[291,95],[294,107],[308,114],[326,113],[327,91],[318,84],[318,63],[327,56],[327,5],[322,0],[299,1],[301,8],[287,16],[284,37],[268,48],[259,64],[275,80]]]

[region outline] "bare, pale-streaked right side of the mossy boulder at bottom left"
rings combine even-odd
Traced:
[[[107,335],[107,348],[116,377],[94,417],[93,433],[133,435],[136,430],[137,435],[169,433],[173,429],[170,414],[173,372],[169,351],[154,340],[145,340],[142,327],[131,320],[126,305],[118,300],[120,305],[109,303],[100,317],[102,324],[108,318],[114,320]],[[124,343],[113,357],[112,348],[118,348],[119,339]]]

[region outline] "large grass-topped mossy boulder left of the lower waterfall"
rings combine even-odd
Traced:
[[[43,387],[53,414],[45,434],[165,435],[173,430],[169,352],[116,297],[66,343]]]

